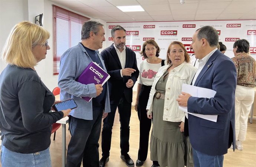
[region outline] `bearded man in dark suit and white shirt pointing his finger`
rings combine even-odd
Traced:
[[[120,117],[120,147],[121,158],[129,167],[134,166],[134,162],[129,156],[129,133],[132,103],[132,87],[139,76],[137,60],[134,51],[125,46],[125,29],[115,26],[111,30],[111,39],[114,41],[110,47],[101,52],[110,79],[109,96],[111,113],[103,121],[102,129],[102,158],[99,166],[104,167],[109,160],[111,147],[112,127],[114,124],[115,111],[118,108]]]

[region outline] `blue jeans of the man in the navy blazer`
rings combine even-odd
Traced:
[[[224,155],[211,156],[192,149],[194,167],[223,167]]]

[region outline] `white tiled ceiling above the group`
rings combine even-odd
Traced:
[[[104,21],[256,19],[256,0],[50,0]],[[116,6],[141,5],[122,12]]]

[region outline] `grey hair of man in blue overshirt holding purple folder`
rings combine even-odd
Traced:
[[[88,39],[90,37],[90,32],[92,31],[97,35],[99,31],[99,26],[104,26],[99,21],[89,20],[83,23],[82,31],[81,31],[81,40]]]

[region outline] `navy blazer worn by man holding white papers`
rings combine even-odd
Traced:
[[[192,147],[216,156],[235,146],[236,67],[233,61],[216,50],[198,75],[194,86],[215,90],[213,98],[190,97],[188,112],[218,115],[217,122],[188,114],[188,131]]]

